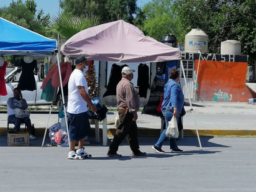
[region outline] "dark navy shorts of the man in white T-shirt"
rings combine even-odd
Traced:
[[[81,140],[89,135],[91,126],[86,112],[79,114],[71,114],[68,112],[68,120],[70,121],[68,133],[70,134],[71,141]]]

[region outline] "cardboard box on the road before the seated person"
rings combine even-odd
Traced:
[[[9,134],[7,133],[8,146],[29,146],[29,133]]]

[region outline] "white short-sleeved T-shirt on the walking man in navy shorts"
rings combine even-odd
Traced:
[[[78,91],[78,86],[84,86],[86,93],[88,93],[88,85],[83,75],[83,71],[75,69],[70,75],[68,81],[68,107],[67,112],[72,114],[79,114],[88,110],[85,99],[82,98]]]

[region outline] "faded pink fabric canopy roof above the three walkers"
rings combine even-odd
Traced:
[[[180,60],[180,50],[152,37],[122,20],[82,30],[68,39],[60,52],[70,58],[85,55],[107,62],[163,62]]]

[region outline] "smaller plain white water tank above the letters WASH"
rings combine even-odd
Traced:
[[[237,40],[221,42],[222,55],[241,55],[241,43]]]

